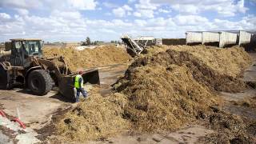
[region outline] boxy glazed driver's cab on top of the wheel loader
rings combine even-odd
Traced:
[[[11,41],[11,58],[12,66],[28,67],[31,58],[42,58],[41,39],[10,39]]]

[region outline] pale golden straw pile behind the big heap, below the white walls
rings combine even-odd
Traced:
[[[186,51],[195,58],[202,60],[207,66],[220,74],[237,77],[250,66],[250,55],[242,47],[218,48],[214,46],[152,46],[148,54],[156,54],[168,49]]]

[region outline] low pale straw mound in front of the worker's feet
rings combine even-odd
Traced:
[[[112,94],[106,98],[92,94],[86,102],[80,102],[65,114],[57,125],[58,134],[66,140],[78,142],[122,134],[130,127],[129,122],[122,118],[124,103],[126,99],[122,94]]]

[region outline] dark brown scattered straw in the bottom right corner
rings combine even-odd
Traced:
[[[256,121],[246,122],[238,115],[215,111],[207,115],[205,123],[206,127],[216,132],[199,138],[198,143],[254,143],[256,141]]]

